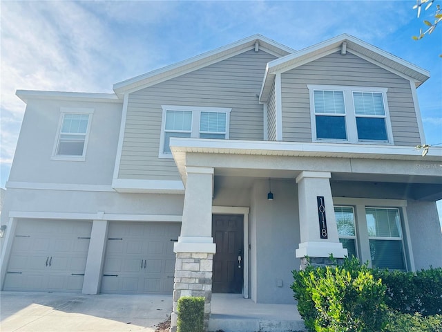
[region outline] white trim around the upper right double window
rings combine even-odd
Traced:
[[[310,117],[311,117],[311,140],[312,142],[343,142],[343,143],[358,143],[358,144],[381,144],[393,145],[393,130],[392,122],[390,120],[390,111],[387,102],[387,88],[379,88],[372,86],[342,86],[342,85],[316,85],[307,84],[310,98]],[[316,115],[314,109],[314,90],[325,91],[343,91],[344,105],[345,105],[345,130],[347,131],[347,140],[335,140],[316,138]],[[356,128],[356,114],[354,112],[354,92],[374,92],[382,93],[384,109],[385,109],[385,129],[387,130],[387,142],[378,140],[358,140],[358,131]],[[338,114],[339,116],[339,114]],[[378,118],[378,117],[376,117]]]

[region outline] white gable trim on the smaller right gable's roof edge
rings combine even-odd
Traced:
[[[310,62],[313,61],[314,56],[320,55],[320,57],[322,57],[324,55],[327,55],[327,53],[332,53],[332,50],[339,50],[343,42],[347,42],[347,50],[352,50],[354,46],[357,45],[359,46],[359,48],[368,50],[368,53],[376,53],[376,55],[383,58],[384,60],[390,60],[390,62],[392,63],[390,63],[389,67],[394,68],[396,69],[396,71],[400,71],[401,73],[409,77],[413,77],[416,80],[424,82],[430,77],[430,73],[428,71],[425,71],[425,69],[411,64],[410,62],[407,62],[400,57],[396,57],[395,55],[385,52],[385,50],[381,50],[381,48],[377,48],[376,46],[367,44],[366,42],[363,42],[362,40],[347,34],[338,35],[337,37],[328,39],[325,42],[320,42],[319,44],[309,46],[302,50],[298,50],[298,52],[296,53],[286,55],[285,57],[281,57],[280,59],[275,59],[269,62],[269,72],[288,71],[292,68],[296,68],[296,66],[300,66],[300,64],[306,63],[305,61],[302,61],[305,58],[307,58],[307,62]],[[356,51],[358,50],[356,49]],[[374,59],[374,57],[368,54],[366,56]],[[388,66],[387,62],[388,61],[383,64]],[[398,64],[399,68],[395,68],[396,66],[392,66],[393,63]],[[403,67],[408,68],[408,73],[405,72],[405,68]]]

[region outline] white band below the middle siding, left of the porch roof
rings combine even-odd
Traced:
[[[184,194],[184,185],[180,180],[137,180],[132,178],[113,179],[112,187],[117,192]]]

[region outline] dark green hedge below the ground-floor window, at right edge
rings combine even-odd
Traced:
[[[374,270],[387,286],[385,303],[401,313],[442,315],[442,268],[417,272]]]

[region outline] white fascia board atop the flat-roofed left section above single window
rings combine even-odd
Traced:
[[[28,100],[30,99],[87,101],[87,102],[116,102],[119,104],[123,102],[123,100],[119,99],[115,93],[17,90],[15,94],[25,103],[28,103]]]

